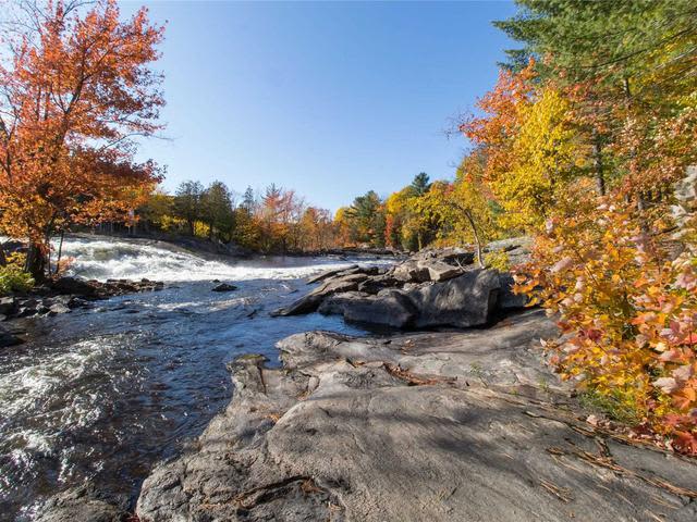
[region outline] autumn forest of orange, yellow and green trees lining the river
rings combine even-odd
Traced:
[[[559,318],[566,341],[548,349],[564,378],[697,452],[695,2],[518,0],[496,26],[519,46],[460,117],[454,176],[419,173],[334,215],[276,185],[158,189],[163,171],[135,161],[131,136],[160,129],[163,28],[145,10],[120,22],[113,1],[57,5],[29,13],[0,69],[0,233],[29,240],[2,277],[46,277],[51,237],[103,222],[259,252],[467,246]],[[519,235],[529,265],[484,259]]]

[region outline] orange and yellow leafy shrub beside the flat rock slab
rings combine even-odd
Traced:
[[[563,378],[697,453],[696,259],[689,246],[671,253],[664,208],[585,196],[560,202],[516,291],[559,316],[567,335],[550,348]]]

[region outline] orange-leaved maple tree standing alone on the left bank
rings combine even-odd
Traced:
[[[163,27],[145,8],[120,20],[114,0],[20,3],[2,34],[0,232],[29,240],[27,269],[42,278],[49,237],[71,223],[123,216],[159,181],[136,164],[135,136],[154,135]]]

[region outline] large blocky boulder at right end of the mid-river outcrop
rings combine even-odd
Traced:
[[[486,324],[500,288],[493,270],[473,270],[443,283],[409,290],[418,309],[417,327],[470,327]]]

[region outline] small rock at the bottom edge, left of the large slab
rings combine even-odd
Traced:
[[[123,522],[127,499],[103,495],[90,486],[51,497],[39,509],[35,522]]]

